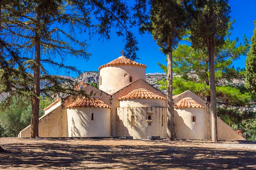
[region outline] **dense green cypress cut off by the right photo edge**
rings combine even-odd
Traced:
[[[250,51],[245,60],[245,87],[256,94],[256,20],[254,21],[254,30],[251,38]]]

